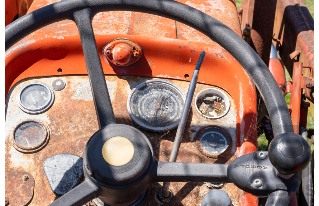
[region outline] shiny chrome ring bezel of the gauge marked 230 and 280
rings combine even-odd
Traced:
[[[21,95],[22,95],[22,92],[28,88],[28,87],[31,87],[33,85],[40,85],[44,88],[46,88],[48,90],[48,95],[49,95],[49,101],[48,103],[46,103],[44,106],[42,106],[41,108],[36,108],[36,109],[30,109],[28,107],[26,107],[25,105],[23,105],[22,101],[21,101]],[[53,104],[54,102],[54,93],[53,93],[53,90],[51,89],[51,87],[49,87],[47,84],[43,83],[43,82],[39,82],[39,81],[35,81],[35,82],[30,82],[30,83],[27,83],[26,85],[24,85],[22,88],[19,89],[19,92],[17,94],[17,104],[19,106],[19,108],[26,112],[26,113],[30,113],[30,114],[38,114],[38,113],[41,113],[43,111],[46,111],[48,108],[51,107],[51,105]]]

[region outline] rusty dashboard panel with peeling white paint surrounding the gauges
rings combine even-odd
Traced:
[[[32,81],[41,81],[48,85],[55,79],[63,79],[66,87],[62,91],[54,91],[55,102],[52,107],[41,114],[31,115],[21,111],[16,104],[16,95],[23,85]],[[119,124],[135,125],[127,111],[126,103],[131,90],[139,83],[153,79],[152,77],[136,76],[114,76],[107,75],[106,82],[112,101],[116,121]],[[184,92],[187,92],[189,82],[182,80],[169,80]],[[204,88],[217,88],[203,83],[198,83],[195,93]],[[221,89],[221,88],[219,88]],[[230,110],[219,119],[206,119],[200,116],[195,109],[191,109],[187,121],[187,126],[183,135],[180,152],[177,162],[199,162],[199,163],[220,163],[228,164],[237,157],[237,116],[233,98],[224,90],[230,99]],[[58,76],[41,79],[21,80],[16,84],[8,95],[9,99],[6,108],[6,173],[11,171],[26,171],[33,175],[35,180],[34,196],[30,206],[47,205],[53,202],[56,196],[50,189],[42,169],[42,164],[49,156],[59,153],[71,153],[83,156],[83,150],[87,140],[98,130],[94,103],[91,94],[91,87],[88,77],[85,76]],[[194,95],[195,98],[195,95]],[[194,99],[193,101],[194,102]],[[192,107],[194,105],[192,104]],[[24,118],[37,118],[45,122],[50,130],[50,140],[48,145],[33,154],[20,153],[11,145],[9,136],[12,127],[17,121]],[[204,156],[198,151],[195,143],[197,131],[207,125],[219,125],[229,132],[232,138],[232,148],[230,152],[221,158],[213,159]],[[173,146],[176,129],[166,133],[153,133],[145,131],[144,134],[151,141],[154,155],[160,161],[168,161]],[[154,196],[161,183],[151,185],[148,205],[159,205]],[[214,186],[210,183],[185,183],[176,182],[171,184],[171,190],[175,198],[172,200],[176,204],[199,205],[204,195],[212,188],[225,190],[233,201],[238,205],[238,198],[241,190],[233,184],[227,183]]]

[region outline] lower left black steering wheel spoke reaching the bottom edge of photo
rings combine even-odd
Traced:
[[[72,190],[56,199],[49,206],[82,206],[100,196],[100,189],[90,179],[74,187]]]

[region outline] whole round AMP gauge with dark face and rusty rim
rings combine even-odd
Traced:
[[[196,146],[203,155],[218,158],[230,151],[232,138],[223,127],[205,126],[197,133]]]

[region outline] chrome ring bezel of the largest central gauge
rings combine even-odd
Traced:
[[[139,126],[141,126],[143,129],[145,130],[149,130],[149,131],[153,131],[153,132],[166,132],[166,131],[169,131],[169,130],[172,130],[174,128],[176,128],[179,124],[179,121],[178,120],[177,122],[175,122],[174,124],[170,125],[170,126],[165,126],[165,127],[152,127],[152,126],[148,126],[146,124],[144,124],[143,122],[141,122],[140,120],[138,120],[135,115],[133,114],[132,110],[131,110],[131,100],[132,100],[132,97],[133,95],[142,87],[144,87],[145,85],[147,84],[154,84],[154,83],[160,83],[160,84],[166,84],[170,87],[173,87],[176,91],[175,92],[178,92],[182,97],[183,97],[183,102],[185,104],[185,100],[186,100],[186,94],[185,92],[179,87],[177,86],[176,84],[170,82],[170,81],[167,81],[167,80],[147,80],[147,81],[144,81],[142,83],[140,83],[139,85],[137,85],[130,93],[128,99],[127,99],[127,109],[129,111],[129,114],[130,114],[130,117],[131,119],[133,120],[133,122]]]

